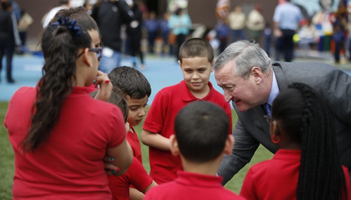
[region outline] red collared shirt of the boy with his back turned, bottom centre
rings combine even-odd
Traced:
[[[178,171],[178,177],[175,180],[148,190],[144,200],[245,199],[224,188],[221,182],[220,176]]]

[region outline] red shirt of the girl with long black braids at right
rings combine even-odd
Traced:
[[[301,150],[279,149],[272,159],[251,166],[240,195],[247,199],[296,199],[300,160]],[[348,169],[342,168],[347,193],[351,194]]]

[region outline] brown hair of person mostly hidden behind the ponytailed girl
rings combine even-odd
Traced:
[[[68,16],[71,20],[76,19],[77,24],[81,25],[86,30],[99,30],[95,20],[87,13],[85,7],[79,6],[69,9],[61,9],[55,14],[54,18],[51,19],[50,23],[57,21],[60,15],[64,18]]]

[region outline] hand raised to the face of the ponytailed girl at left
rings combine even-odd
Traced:
[[[97,92],[95,99],[108,102],[110,100],[113,85],[108,78],[107,73],[98,70],[95,84],[99,85],[99,91]]]

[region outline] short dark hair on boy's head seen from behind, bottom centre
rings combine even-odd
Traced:
[[[195,101],[177,114],[174,131],[186,159],[210,161],[223,152],[229,131],[228,115],[217,104]]]

